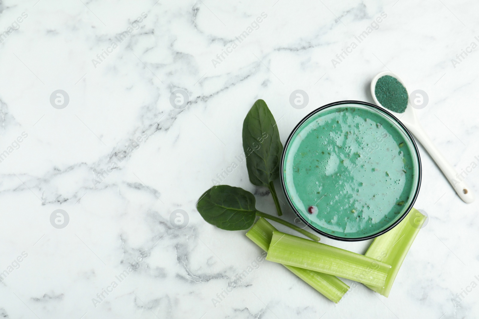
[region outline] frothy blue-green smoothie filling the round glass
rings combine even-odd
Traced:
[[[313,227],[333,236],[362,238],[386,229],[418,187],[409,137],[369,106],[320,110],[301,124],[285,152],[288,197]]]

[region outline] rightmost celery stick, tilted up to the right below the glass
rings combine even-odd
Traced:
[[[396,278],[396,275],[398,275],[402,261],[404,260],[404,257],[406,257],[406,254],[408,253],[414,238],[416,238],[416,235],[421,229],[424,220],[426,220],[426,217],[417,209],[411,209],[409,214],[412,215],[407,216],[392,230],[376,237],[365,253],[365,256],[375,258],[391,265],[391,271],[386,278],[384,287],[366,285],[368,288],[385,297],[389,296],[389,291],[391,291],[394,279]]]

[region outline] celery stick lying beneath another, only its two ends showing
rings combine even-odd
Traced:
[[[260,218],[256,224],[253,225],[251,230],[246,233],[246,236],[264,251],[268,252],[273,231],[276,231],[274,226],[264,218]],[[316,271],[288,265],[284,266],[309,286],[313,287],[319,293],[335,303],[338,303],[349,289],[348,285],[333,275],[318,273]]]

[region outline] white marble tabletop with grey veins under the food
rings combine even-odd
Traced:
[[[8,273],[0,317],[478,318],[479,288],[451,301],[479,284],[478,205],[456,196],[422,148],[415,207],[430,220],[388,298],[357,286],[334,305],[262,262],[212,304],[261,251],[245,231],[207,224],[195,202],[242,152],[242,121],[256,99],[268,103],[285,142],[321,105],[372,102],[369,81],[390,69],[429,95],[419,118],[456,169],[479,164],[479,48],[451,62],[479,44],[479,4],[395,1],[0,1],[0,30],[12,31],[0,44],[0,272]],[[212,59],[262,12],[259,28],[215,67]],[[331,59],[382,12],[379,29],[334,67]],[[115,40],[132,23],[125,41]],[[102,50],[111,53],[92,63]],[[57,89],[69,96],[61,110],[49,101]],[[169,102],[176,89],[191,99],[182,110]],[[289,104],[296,89],[309,96],[302,110]],[[102,169],[111,173],[94,185]],[[477,168],[467,176],[476,193],[478,177]],[[244,163],[224,183],[254,192],[257,207],[274,213]],[[56,209],[68,212],[63,229],[50,223]],[[171,226],[175,209],[188,213],[186,228]],[[370,243],[323,242],[359,253]],[[116,280],[130,265],[137,269]],[[92,298],[113,281],[95,307]]]

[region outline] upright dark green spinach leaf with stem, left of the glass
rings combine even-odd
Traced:
[[[250,181],[270,189],[278,216],[282,215],[273,181],[279,177],[283,144],[266,102],[257,100],[243,121],[243,150]]]

